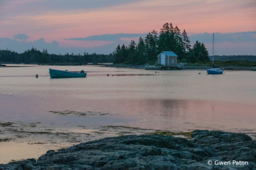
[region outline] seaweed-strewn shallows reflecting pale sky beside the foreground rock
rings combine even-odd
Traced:
[[[36,159],[48,150],[59,150],[81,142],[148,132],[154,130],[129,126],[88,126],[77,122],[0,122],[0,164],[31,157]]]

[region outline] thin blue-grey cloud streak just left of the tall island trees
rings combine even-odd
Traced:
[[[87,36],[86,38],[71,38],[64,40],[78,40],[78,41],[110,41],[110,42],[120,42],[121,38],[144,38],[147,34],[104,34],[104,35],[93,35]]]

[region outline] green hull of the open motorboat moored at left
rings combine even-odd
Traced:
[[[76,73],[69,71],[59,71],[55,69],[49,69],[51,78],[71,78],[71,77],[86,77],[86,73]]]

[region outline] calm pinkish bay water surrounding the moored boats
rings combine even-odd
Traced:
[[[81,125],[87,130],[115,125],[256,133],[256,72],[208,75],[193,70],[155,73],[95,66],[30,66],[0,67],[0,123],[41,122],[46,127],[61,126],[78,133]],[[48,68],[83,69],[88,76],[50,78]],[[87,114],[58,113],[65,110]],[[0,133],[0,138],[6,134]],[[15,145],[15,140],[11,142]],[[7,143],[0,142],[0,150]],[[0,163],[6,160],[0,154]]]

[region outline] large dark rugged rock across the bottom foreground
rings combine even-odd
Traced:
[[[187,140],[171,134],[94,140],[47,151],[38,161],[1,164],[0,169],[256,169],[256,141],[248,135],[195,130]],[[241,165],[233,165],[233,160]],[[220,165],[220,161],[230,165]]]

